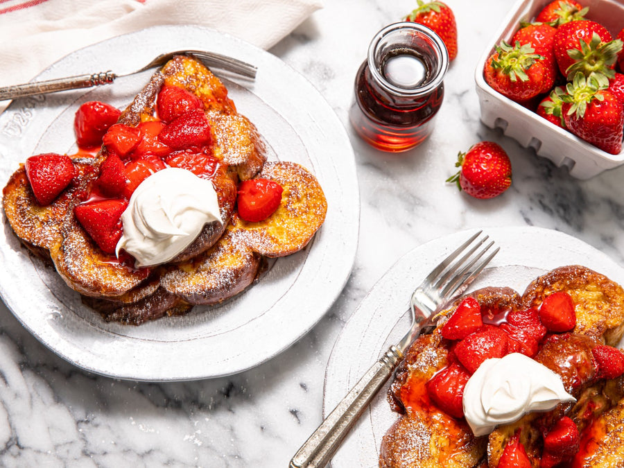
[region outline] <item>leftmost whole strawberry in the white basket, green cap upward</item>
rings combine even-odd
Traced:
[[[552,86],[554,76],[544,57],[535,53],[530,44],[501,42],[489,56],[483,78],[492,89],[517,103],[524,103]]]

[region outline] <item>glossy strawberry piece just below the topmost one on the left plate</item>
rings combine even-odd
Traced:
[[[158,139],[174,150],[209,145],[212,141],[210,124],[202,110],[191,110],[168,123]]]

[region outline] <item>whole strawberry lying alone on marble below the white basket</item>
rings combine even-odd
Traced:
[[[459,153],[455,164],[460,171],[447,182],[474,198],[493,198],[507,190],[512,182],[512,168],[505,150],[493,141],[480,141],[467,153]]]

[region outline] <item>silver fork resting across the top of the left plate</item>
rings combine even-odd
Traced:
[[[101,73],[92,73],[78,76],[69,76],[68,78],[55,78],[54,80],[37,81],[35,83],[25,83],[24,85],[12,85],[0,87],[0,101],[6,99],[24,98],[26,96],[34,96],[35,94],[54,93],[58,91],[67,91],[68,89],[90,88],[99,85],[108,85],[113,83],[116,78],[121,76],[134,75],[150,68],[164,65],[173,55],[194,55],[196,58],[204,62],[208,67],[214,67],[236,73],[245,78],[256,78],[257,67],[252,64],[243,62],[236,58],[227,57],[220,53],[207,51],[175,51],[158,55],[154,60],[146,64],[145,67],[131,71],[129,73],[116,74],[112,71]]]

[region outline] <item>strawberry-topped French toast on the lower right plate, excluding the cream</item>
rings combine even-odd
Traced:
[[[445,333],[473,300],[481,328],[462,339]],[[461,297],[442,311],[433,333],[415,340],[397,369],[388,401],[401,416],[383,437],[380,467],[624,467],[624,354],[616,348],[623,333],[623,288],[583,266],[546,272],[522,295],[489,287]],[[473,349],[484,355],[466,356],[464,341],[480,343]],[[554,372],[574,399],[476,437],[467,421],[474,402],[462,401],[467,379],[484,358],[512,352]],[[523,391],[501,389],[506,396]]]

